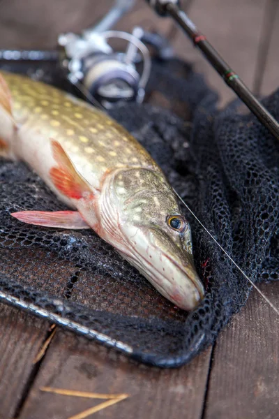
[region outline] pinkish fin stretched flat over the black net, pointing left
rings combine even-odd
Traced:
[[[82,230],[90,228],[77,211],[20,211],[10,214],[23,223],[35,226]]]

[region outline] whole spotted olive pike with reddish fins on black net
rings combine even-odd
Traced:
[[[92,228],[177,307],[204,296],[190,226],[148,152],[113,119],[66,92],[0,72],[0,154],[33,168],[69,211],[18,220]]]

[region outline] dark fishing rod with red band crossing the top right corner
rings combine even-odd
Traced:
[[[224,61],[216,49],[207,41],[206,36],[201,34],[188,15],[179,6],[179,0],[146,0],[149,5],[162,17],[171,16],[179,27],[193,41],[223,78],[227,85],[241,98],[250,111],[259,119],[271,134],[279,140],[279,124],[271,113],[259,103],[257,98],[248,89],[246,84],[239,78],[232,68]]]

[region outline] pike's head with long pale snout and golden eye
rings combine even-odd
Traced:
[[[163,173],[121,172],[114,193],[119,253],[177,307],[194,309],[204,288],[195,270],[190,226]]]

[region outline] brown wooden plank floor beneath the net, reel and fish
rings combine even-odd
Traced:
[[[266,10],[275,1],[194,0],[190,7],[190,15],[199,28],[249,87],[255,84],[257,75],[263,94],[279,84],[279,12],[273,24],[266,65],[262,66],[264,72],[256,71],[257,60],[261,58],[260,36],[269,36],[262,23],[269,24],[271,13]],[[60,31],[86,27],[93,20],[92,15],[101,16],[112,1],[93,3],[80,0],[77,8],[74,0],[2,0],[1,47],[53,47]],[[129,19],[119,23],[119,28],[130,29],[135,23],[160,27],[164,33],[172,27],[167,20],[153,18],[140,1]],[[206,74],[220,92],[222,103],[234,98],[182,34],[176,34],[174,45],[180,55],[195,61],[199,71]],[[262,286],[275,304],[278,287],[279,284]],[[137,365],[114,351],[61,330],[57,330],[42,360],[34,364],[50,337],[50,325],[0,304],[0,419],[276,418],[277,330],[276,315],[252,293],[246,307],[220,334],[213,351],[209,348],[181,369]],[[98,409],[96,406],[107,400],[89,395],[58,395],[43,388],[125,393],[128,397],[93,413],[94,407]],[[81,414],[89,409],[90,416]]]

